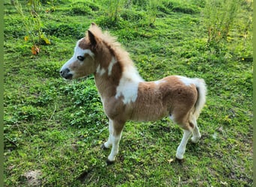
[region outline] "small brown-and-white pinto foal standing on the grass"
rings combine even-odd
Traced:
[[[108,163],[115,162],[124,123],[127,120],[150,121],[169,116],[183,129],[176,158],[183,159],[192,134],[197,143],[201,134],[197,118],[206,100],[203,79],[167,76],[144,82],[129,53],[115,37],[91,24],[85,37],[76,43],[73,57],[61,67],[64,79],[76,79],[93,73],[97,89],[109,117],[109,139],[103,148],[112,147]]]

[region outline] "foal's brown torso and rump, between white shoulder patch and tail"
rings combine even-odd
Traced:
[[[173,112],[189,112],[197,96],[192,79],[186,77],[167,76],[155,82],[141,82],[130,120],[158,120]]]

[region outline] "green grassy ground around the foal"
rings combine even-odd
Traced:
[[[50,2],[40,20],[51,44],[41,43],[37,55],[15,7],[4,3],[5,186],[253,186],[250,1],[218,45],[207,43],[204,1],[162,1],[151,25],[144,1],[119,10],[115,24],[106,18],[108,1]],[[205,79],[202,138],[189,142],[185,162],[174,161],[182,131],[164,118],[128,122],[117,162],[106,165],[109,150],[100,144],[108,120],[94,78],[64,82],[58,73],[91,22],[118,37],[146,80]],[[34,181],[31,171],[40,171]]]

